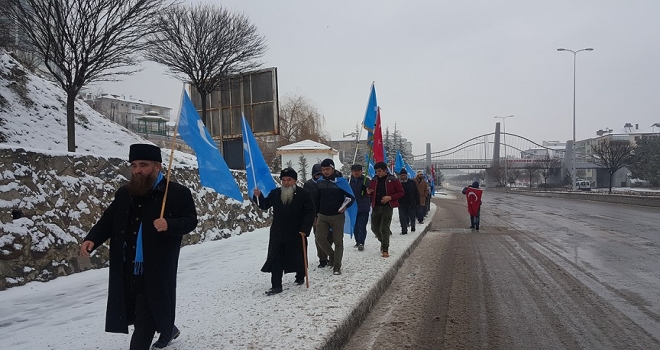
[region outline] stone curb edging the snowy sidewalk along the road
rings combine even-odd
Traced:
[[[412,254],[413,250],[415,250],[417,245],[419,245],[419,242],[421,242],[422,238],[424,238],[426,233],[430,231],[432,227],[432,220],[429,220],[429,224],[426,225],[424,230],[419,233],[410,246],[408,246],[408,248],[397,258],[394,265],[392,265],[392,267],[385,272],[383,277],[381,277],[380,280],[378,280],[378,282],[369,290],[367,296],[355,306],[351,315],[330,335],[326,343],[321,347],[322,350],[335,350],[342,348],[349,337],[353,334],[353,331],[355,331],[355,329],[357,329],[367,318],[369,311],[371,311],[373,306],[378,302],[378,299],[380,299],[390,286],[403,263],[410,254]]]

